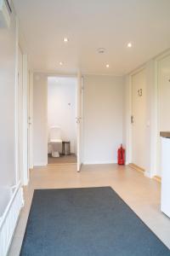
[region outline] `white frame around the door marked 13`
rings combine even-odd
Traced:
[[[132,163],[132,125],[131,125],[131,114],[132,114],[132,76],[135,73],[139,73],[145,69],[146,72],[146,104],[147,104],[147,120],[146,122],[150,123],[147,131],[147,138],[149,139],[148,143],[148,154],[146,157],[146,166],[144,176],[154,177],[156,175],[156,132],[157,132],[157,97],[156,97],[156,64],[155,60],[150,60],[147,63],[144,63],[141,67],[135,69],[132,73],[127,75],[126,83],[126,148],[127,148],[127,162],[129,165]],[[148,98],[151,94],[154,93],[154,97]]]

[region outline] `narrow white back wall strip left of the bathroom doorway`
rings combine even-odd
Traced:
[[[48,79],[40,73],[33,77],[33,163],[48,164]]]

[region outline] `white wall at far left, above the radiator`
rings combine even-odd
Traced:
[[[17,28],[11,16],[9,29],[0,27],[0,185],[15,183],[15,90]],[[17,45],[17,46],[16,46]]]

